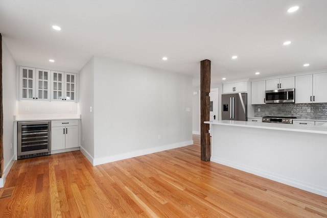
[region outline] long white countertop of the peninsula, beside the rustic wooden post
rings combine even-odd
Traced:
[[[237,126],[247,128],[259,128],[259,129],[272,129],[272,130],[283,130],[292,132],[307,132],[307,133],[318,133],[327,135],[326,126],[299,126],[292,124],[276,124],[276,123],[261,123],[261,122],[247,122],[238,120],[217,120],[217,121],[205,121],[205,124],[212,125],[223,125],[223,126]]]

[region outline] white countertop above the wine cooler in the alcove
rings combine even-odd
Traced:
[[[80,114],[20,114],[14,116],[15,122],[35,120],[67,120],[81,119]]]

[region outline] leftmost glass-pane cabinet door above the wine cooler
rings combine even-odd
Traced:
[[[35,68],[19,67],[19,99],[35,99]]]

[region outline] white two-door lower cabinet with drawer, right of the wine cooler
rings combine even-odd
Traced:
[[[51,122],[51,150],[78,147],[78,120]]]

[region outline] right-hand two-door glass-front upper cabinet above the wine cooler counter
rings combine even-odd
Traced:
[[[51,70],[52,101],[76,101],[77,75]]]

